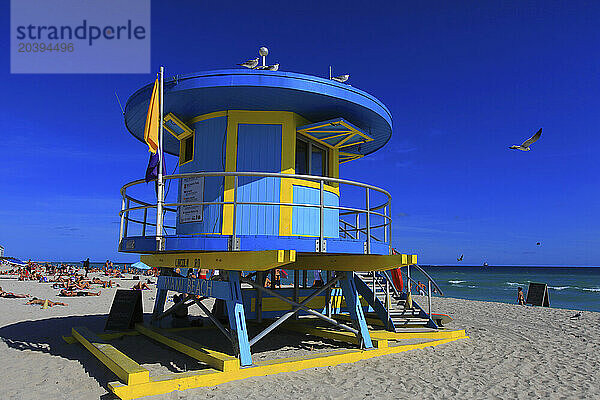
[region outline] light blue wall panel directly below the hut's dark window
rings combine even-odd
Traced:
[[[320,203],[319,189],[294,185],[294,203],[316,204]],[[326,206],[339,206],[339,197],[325,191],[323,200]],[[325,209],[324,235],[326,237],[339,237],[339,210]],[[319,236],[319,208],[318,207],[292,207],[292,234]]]

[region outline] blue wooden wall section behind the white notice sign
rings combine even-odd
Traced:
[[[181,173],[225,171],[227,117],[200,121],[192,128],[195,129],[194,158],[180,166],[179,171]],[[179,180],[179,184],[181,184],[181,180]],[[204,201],[223,201],[223,184],[222,177],[205,178]],[[177,233],[221,233],[221,216],[221,205],[204,206],[202,222],[180,224],[178,220]]]

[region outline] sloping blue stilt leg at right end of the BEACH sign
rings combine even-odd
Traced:
[[[229,316],[229,328],[232,331],[233,348],[239,354],[242,366],[252,365],[239,271],[229,271],[229,290],[231,292],[231,300],[227,300],[226,304]]]

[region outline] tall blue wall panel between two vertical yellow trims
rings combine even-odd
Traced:
[[[237,170],[281,172],[281,125],[238,125]],[[240,177],[237,200],[278,203],[280,180]],[[236,234],[279,235],[279,206],[238,206]]]

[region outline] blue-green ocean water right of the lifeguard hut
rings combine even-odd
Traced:
[[[600,311],[600,267],[422,267],[446,297],[517,303],[529,282],[546,283],[550,307]],[[414,272],[414,273],[413,273]],[[424,281],[411,270],[411,278]]]

